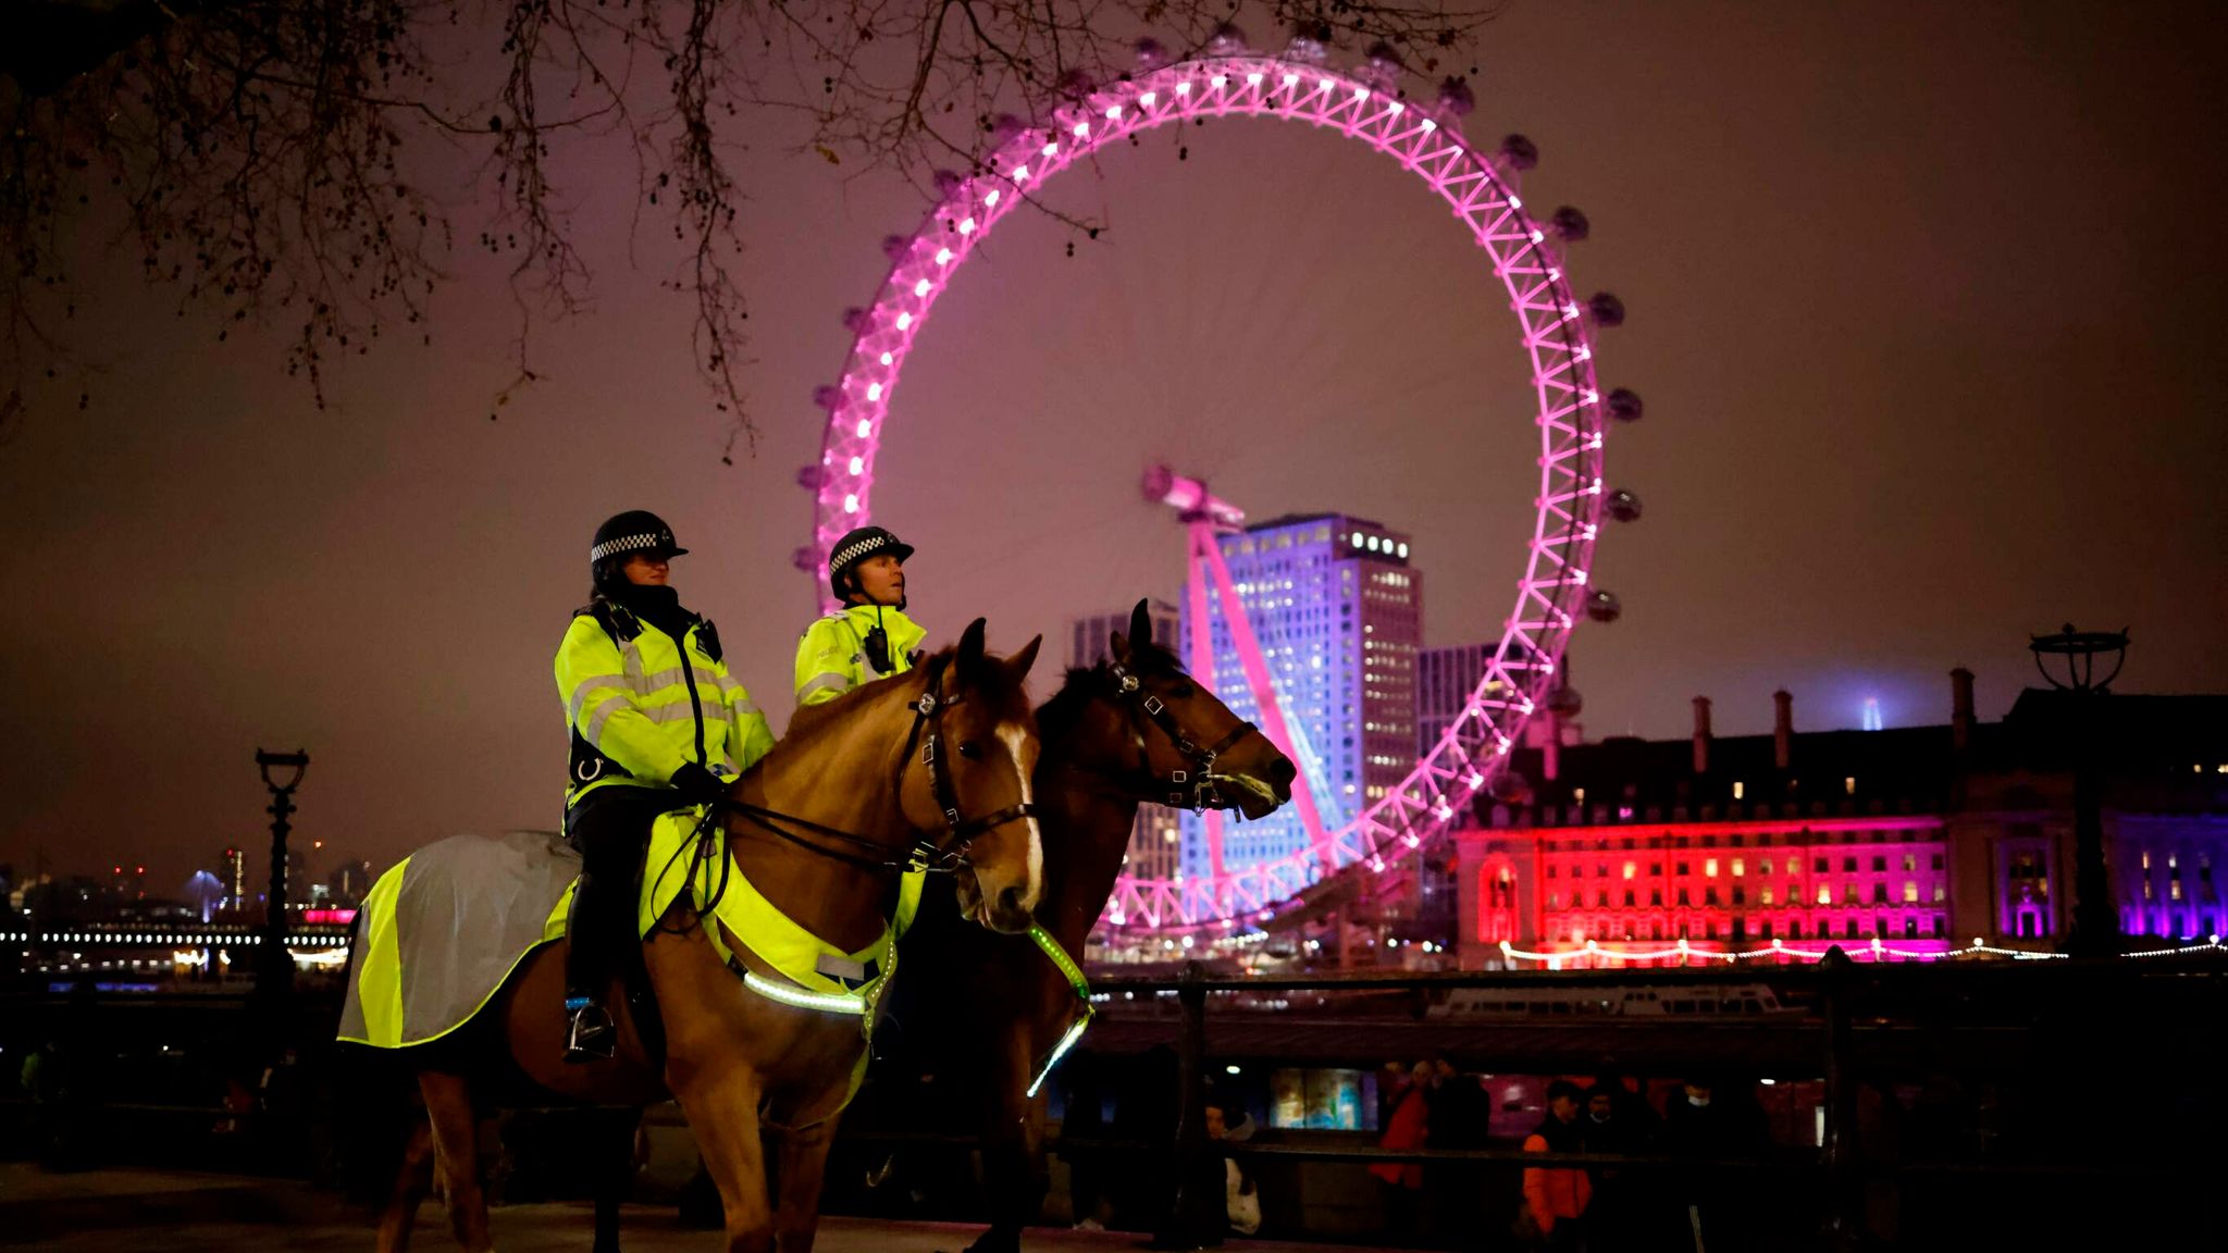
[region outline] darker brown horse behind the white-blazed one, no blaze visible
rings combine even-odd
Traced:
[[[1145,602],[1112,658],[1067,673],[1036,711],[1038,820],[1045,832],[1045,892],[1036,921],[1076,961],[1114,890],[1141,803],[1234,807],[1259,818],[1292,796],[1294,767],[1252,722],[1192,682],[1172,653],[1152,644]],[[1023,936],[958,927],[925,903],[900,956],[898,990],[909,1043],[927,1043],[936,1075],[980,1092],[983,1171],[991,1228],[971,1253],[1020,1249],[1020,1228],[1043,1199],[1040,1126],[1029,1088],[1076,1021],[1076,992]],[[911,1012],[907,1012],[911,1010]]]

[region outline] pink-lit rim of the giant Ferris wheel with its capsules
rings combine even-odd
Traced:
[[[1388,60],[1332,69],[1319,45],[1306,42],[1283,56],[1219,45],[1214,56],[1174,65],[1143,58],[1134,78],[1063,105],[1049,127],[1009,134],[980,174],[938,181],[940,203],[911,236],[889,243],[891,270],[873,308],[847,319],[856,339],[842,379],[815,392],[829,424],[820,464],[802,475],[815,513],[811,544],[795,560],[809,573],[822,569],[838,535],[871,517],[876,453],[907,354],[974,247],[1040,183],[1094,149],[1190,118],[1279,118],[1366,143],[1455,212],[1506,288],[1537,401],[1537,513],[1515,609],[1466,709],[1381,800],[1337,829],[1308,823],[1308,849],[1188,881],[1121,878],[1105,912],[1112,927],[1250,930],[1330,874],[1384,872],[1506,774],[1524,720],[1557,684],[1577,618],[1618,615],[1618,598],[1595,589],[1589,571],[1602,513],[1638,515],[1638,499],[1602,488],[1602,441],[1609,419],[1640,417],[1640,397],[1622,388],[1602,395],[1591,332],[1618,326],[1624,308],[1609,294],[1580,299],[1564,272],[1562,252],[1584,239],[1586,218],[1557,210],[1540,221],[1524,207],[1519,176],[1537,156],[1531,143],[1508,136],[1484,154],[1462,136],[1466,91],[1421,105],[1399,98],[1397,80]],[[827,584],[820,589],[822,609],[833,609]]]

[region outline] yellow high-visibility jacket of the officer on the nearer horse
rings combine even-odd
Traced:
[[[619,606],[584,609],[557,647],[557,698],[573,734],[566,805],[615,783],[668,787],[688,763],[735,778],[773,747],[702,620],[675,640]]]

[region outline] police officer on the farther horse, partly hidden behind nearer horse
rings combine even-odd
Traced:
[[[880,526],[860,526],[829,551],[829,589],[842,609],[798,640],[798,707],[905,673],[927,631],[905,615],[905,560],[913,546]]]

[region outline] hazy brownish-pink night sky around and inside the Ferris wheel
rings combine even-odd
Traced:
[[[1646,517],[1600,548],[1624,620],[1573,644],[1589,734],[1684,734],[1696,693],[1720,734],[1760,731],[1773,687],[1800,729],[1854,727],[1867,696],[1938,722],[1956,664],[1996,718],[2032,678],[2025,633],[2061,620],[2130,629],[2123,691],[2228,689],[2224,13],[1517,0],[1488,29],[1468,136],[1528,134],[1526,203],[1593,218],[1571,272],[1631,310],[1602,383],[1649,404],[1609,444]],[[595,308],[537,328],[546,381],[492,424],[517,312],[486,256],[455,261],[430,348],[348,363],[323,412],[276,332],[216,343],[129,259],[96,279],[91,408],[0,444],[0,861],[145,861],[172,892],[263,847],[256,745],[314,758],[316,878],[555,827],[550,655],[622,508],[693,548],[675,582],[780,729],[813,613],[789,566],[809,397],[922,201],[793,156],[764,118],[731,138],[762,426],[733,468],[615,149],[559,152]],[[1110,230],[1069,259],[1056,223],[1007,221],[896,392],[876,519],[920,548],[931,640],[974,615],[1003,649],[1054,633],[1043,693],[1063,618],[1172,598],[1181,531],[1136,495],[1152,459],[1254,517],[1410,531],[1426,642],[1499,635],[1531,528],[1526,368],[1417,178],[1214,123],[1049,196]]]

